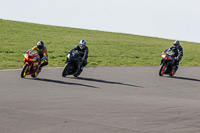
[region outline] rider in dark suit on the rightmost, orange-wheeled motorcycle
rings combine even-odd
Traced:
[[[175,53],[175,55],[174,55],[175,63],[174,63],[173,69],[177,70],[178,66],[179,66],[179,62],[181,61],[181,59],[183,57],[183,48],[181,47],[180,42],[175,41],[173,43],[173,45],[169,49],[166,49],[164,52],[166,52],[166,51],[167,52],[172,51],[173,53]]]

